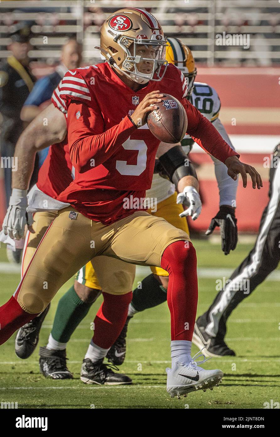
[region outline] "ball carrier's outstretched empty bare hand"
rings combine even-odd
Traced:
[[[229,158],[225,160],[225,165],[228,167],[228,175],[232,177],[233,180],[237,179],[237,175],[239,173],[241,174],[244,188],[247,186],[247,173],[249,173],[252,179],[252,186],[254,189],[257,186],[260,190],[260,188],[263,186],[262,178],[256,169],[239,161],[237,156],[229,156]]]

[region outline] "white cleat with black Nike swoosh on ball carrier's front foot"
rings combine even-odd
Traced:
[[[201,351],[198,352],[198,354]],[[223,372],[221,370],[205,370],[198,366],[198,364],[205,363],[209,358],[205,355],[196,354],[188,364],[183,364],[177,361],[172,369],[167,368],[167,392],[170,393],[171,398],[177,396],[180,399],[181,395],[186,395],[190,392],[203,390],[206,392],[207,388],[213,390],[214,385],[219,386],[222,382]],[[198,356],[197,356],[198,355]],[[194,358],[203,357],[202,361],[195,362]]]

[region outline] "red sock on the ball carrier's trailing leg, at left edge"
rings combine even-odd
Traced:
[[[12,296],[8,302],[0,307],[0,344],[5,343],[17,329],[34,319],[38,314],[24,311]]]

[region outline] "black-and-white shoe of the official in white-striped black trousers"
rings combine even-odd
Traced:
[[[205,357],[234,357],[236,353],[230,349],[223,339],[211,337],[205,332],[204,326],[198,326],[195,323],[194,334],[192,342],[199,349],[203,349]]]

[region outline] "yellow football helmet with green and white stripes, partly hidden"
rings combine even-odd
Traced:
[[[178,38],[166,38],[166,41],[166,59],[169,64],[176,65],[188,79],[188,96],[190,96],[194,89],[195,76],[197,75],[195,59],[191,49]]]

